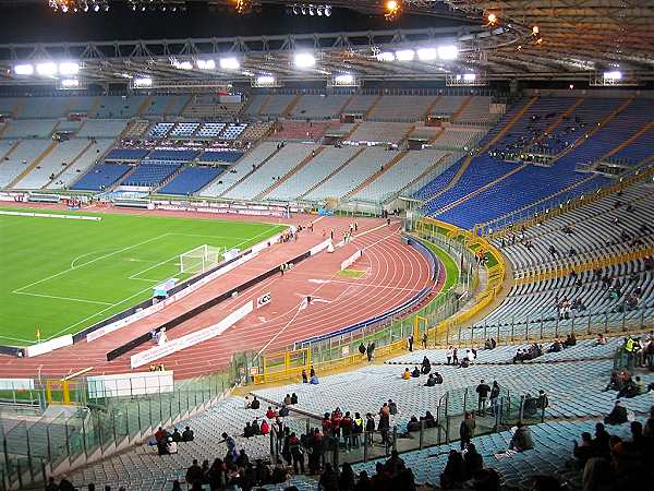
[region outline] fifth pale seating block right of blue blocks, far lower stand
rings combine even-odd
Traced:
[[[374,201],[386,199],[409,185],[436,163],[441,161],[445,155],[447,153],[440,149],[411,151],[370,185],[354,194],[354,199],[361,197]],[[441,165],[445,165],[445,163],[441,161]]]

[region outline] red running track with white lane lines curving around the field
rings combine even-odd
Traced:
[[[206,218],[206,214],[203,216]],[[316,217],[300,216],[288,221],[306,224],[310,219],[316,220]],[[266,218],[266,221],[269,220]],[[322,252],[300,263],[283,277],[275,275],[240,297],[227,300],[175,327],[169,333],[170,338],[211,325],[245,301],[263,292],[271,292],[270,304],[255,310],[221,336],[164,358],[160,362],[174,370],[175,378],[180,379],[214,372],[229,361],[232,352],[278,350],[293,342],[337,331],[401,304],[432,284],[427,261],[419,251],[401,242],[399,224],[388,227],[379,219],[358,221],[360,230],[356,237],[351,243],[337,248],[335,253]],[[152,345],[140,347],[112,362],[106,361],[106,352],[262,271],[308,250],[323,240],[323,230],[328,235],[334,229],[338,240],[349,223],[347,218],[322,218],[316,221],[313,233],[302,233],[296,242],[274,246],[266,253],[164,311],[94,343],[80,343],[32,359],[0,356],[0,376],[29,378],[38,371],[44,376],[61,376],[87,367],[94,367],[93,372],[98,374],[128,372],[130,356]],[[365,275],[359,279],[336,276],[341,261],[358,248],[363,249],[364,254],[352,267],[365,270]],[[307,295],[315,300],[301,309]],[[147,370],[147,367],[142,369]]]

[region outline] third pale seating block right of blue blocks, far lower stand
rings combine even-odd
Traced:
[[[301,196],[361,149],[351,145],[344,145],[342,148],[326,147],[315,158],[312,158],[306,166],[272,190],[267,197],[271,200],[294,200]]]

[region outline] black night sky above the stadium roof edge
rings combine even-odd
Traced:
[[[186,12],[175,13],[133,12],[125,4],[112,4],[107,13],[62,14],[51,11],[43,1],[43,4],[17,7],[0,3],[0,43],[229,37],[455,24],[450,20],[411,15],[386,22],[380,15],[342,9],[334,9],[330,17],[288,15],[279,5],[264,5],[261,14],[250,15],[210,10],[206,4],[192,4]]]

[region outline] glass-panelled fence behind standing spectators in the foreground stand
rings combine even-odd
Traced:
[[[431,408],[434,419],[421,419],[411,431],[408,427],[393,426],[372,432],[361,431],[351,436],[324,435],[323,451],[317,458],[322,463],[329,462],[332,465],[346,462],[354,464],[386,458],[391,451],[411,452],[447,444],[460,440],[459,427],[467,414],[475,419],[475,436],[504,431],[520,422],[535,424],[545,419],[545,407],[537,396],[530,393],[516,394],[501,388],[496,400],[486,402],[481,406],[475,388],[462,387],[445,393],[436,407]],[[537,394],[537,391],[533,394]],[[308,435],[314,429],[320,429],[318,416],[300,415],[291,421],[291,431],[298,435]],[[271,433],[270,455],[274,462],[281,462],[281,441]],[[310,466],[311,458],[310,456]]]

